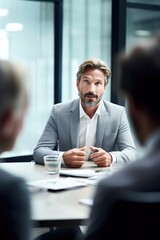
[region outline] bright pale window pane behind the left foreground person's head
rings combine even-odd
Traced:
[[[24,128],[13,151],[30,155],[53,105],[53,10],[47,1],[0,0],[0,58],[24,62],[29,69],[30,102]],[[13,29],[11,23],[18,23]]]

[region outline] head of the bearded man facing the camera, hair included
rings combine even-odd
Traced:
[[[80,64],[77,72],[77,89],[84,107],[97,106],[106,90],[111,71],[107,64],[91,58]]]

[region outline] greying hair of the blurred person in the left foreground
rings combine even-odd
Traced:
[[[18,110],[24,105],[26,72],[8,60],[0,60],[0,116],[8,110]]]

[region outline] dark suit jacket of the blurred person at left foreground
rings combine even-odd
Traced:
[[[0,239],[30,240],[30,213],[25,181],[0,169]]]

